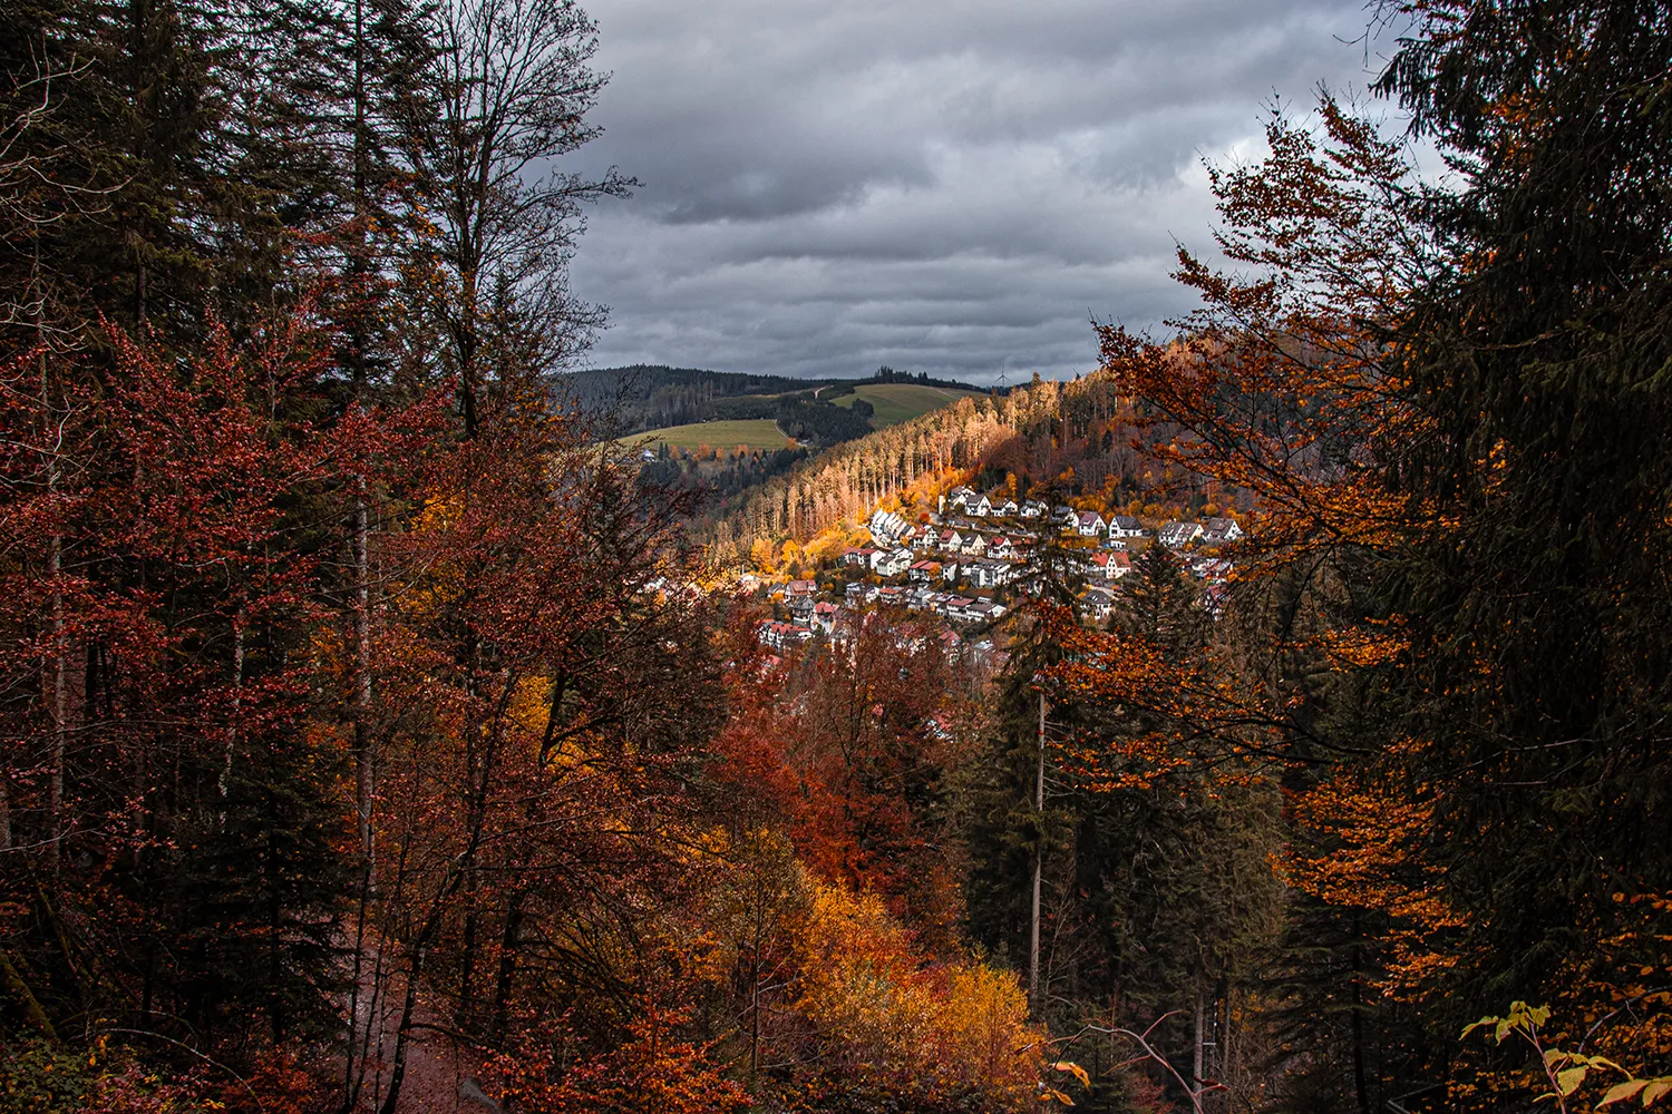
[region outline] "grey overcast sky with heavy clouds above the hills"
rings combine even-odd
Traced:
[[[577,167],[589,362],[976,382],[1095,366],[1088,317],[1190,306],[1202,157],[1363,90],[1363,0],[590,0],[614,78]],[[1366,58],[1368,53],[1368,58]]]

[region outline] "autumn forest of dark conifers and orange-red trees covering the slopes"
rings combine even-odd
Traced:
[[[1197,311],[883,428],[575,374],[572,0],[8,3],[0,1111],[1672,1104],[1672,10],[1374,17]],[[953,494],[1068,529],[890,603]]]

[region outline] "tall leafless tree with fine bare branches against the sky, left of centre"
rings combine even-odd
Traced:
[[[597,137],[585,122],[607,75],[589,68],[595,25],[572,0],[446,0],[435,13],[433,100],[413,160],[431,190],[438,311],[451,341],[465,433],[508,367],[545,372],[587,344],[597,306],[568,287],[582,207],[634,185],[565,174]],[[512,372],[513,374],[513,372]]]

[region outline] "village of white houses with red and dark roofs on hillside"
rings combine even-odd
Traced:
[[[1234,518],[1145,521],[1017,499],[1003,488],[978,493],[960,486],[935,503],[933,511],[915,516],[918,521],[905,509],[873,511],[859,531],[866,543],[848,546],[811,576],[744,573],[739,591],[764,598],[774,611],[756,626],[761,645],[771,651],[814,640],[841,645],[864,616],[895,608],[941,620],[938,641],[948,660],[997,670],[1007,655],[988,635],[993,621],[1045,578],[1072,585],[1082,621],[1102,626],[1134,556],[1165,546],[1200,583],[1200,605],[1217,618],[1234,568],[1227,546],[1244,538]]]

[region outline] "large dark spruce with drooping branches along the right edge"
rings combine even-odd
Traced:
[[[1396,486],[1455,523],[1401,610],[1471,1007],[1672,887],[1669,73],[1662,3],[1515,0],[1425,5],[1381,80],[1465,184],[1423,209],[1456,262],[1391,339],[1433,423]]]

